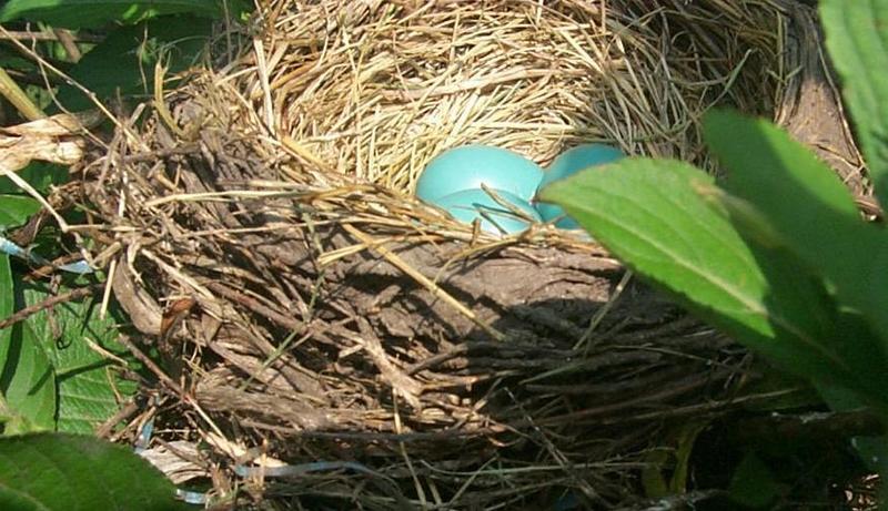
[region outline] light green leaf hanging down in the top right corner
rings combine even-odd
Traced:
[[[821,0],[831,62],[864,150],[876,195],[888,205],[888,2]]]

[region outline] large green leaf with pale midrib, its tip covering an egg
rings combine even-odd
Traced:
[[[835,308],[823,286],[780,248],[745,241],[712,206],[703,171],[627,160],[543,191],[640,275],[738,341],[808,378],[857,387],[828,346]]]

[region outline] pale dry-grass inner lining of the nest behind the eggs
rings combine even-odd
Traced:
[[[408,192],[447,147],[702,161],[714,103],[780,101],[783,2],[274,2],[240,88],[312,163]],[[652,6],[656,8],[652,9]]]

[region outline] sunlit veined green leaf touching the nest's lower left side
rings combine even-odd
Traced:
[[[24,286],[23,286],[24,287]],[[70,289],[62,288],[60,293]],[[34,305],[49,297],[34,287],[24,288],[26,303]],[[132,362],[129,351],[117,343],[114,319],[99,317],[98,303],[85,299],[57,305],[27,320],[56,369],[59,431],[91,433],[120,409],[119,398],[135,392],[135,384],[121,378],[120,367],[90,348],[90,343]]]

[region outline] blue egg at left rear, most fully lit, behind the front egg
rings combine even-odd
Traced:
[[[491,188],[508,192],[529,202],[543,170],[518,153],[486,145],[464,145],[432,160],[416,183],[416,196],[434,201],[463,190]]]

